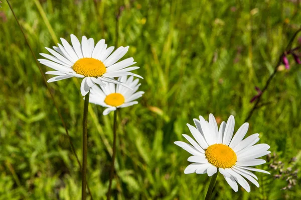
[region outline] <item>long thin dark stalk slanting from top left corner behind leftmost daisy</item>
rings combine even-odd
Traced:
[[[76,154],[75,147],[74,147],[73,142],[72,142],[72,140],[71,140],[71,136],[69,135],[69,132],[68,132],[66,123],[65,123],[65,121],[64,121],[64,119],[63,119],[63,116],[62,116],[62,114],[61,114],[61,112],[60,112],[60,110],[59,110],[59,107],[58,107],[58,105],[57,105],[57,103],[56,103],[56,101],[55,101],[55,99],[54,99],[54,96],[53,96],[53,94],[52,94],[52,92],[51,92],[51,90],[50,90],[50,87],[48,86],[47,78],[46,78],[46,76],[45,76],[45,74],[44,74],[44,72],[43,72],[43,70],[42,70],[42,68],[41,68],[41,66],[40,66],[40,64],[39,64],[39,62],[38,62],[38,60],[37,60],[37,57],[36,57],[36,55],[35,55],[35,53],[34,53],[32,47],[31,47],[31,45],[29,44],[29,41],[28,41],[28,39],[27,39],[27,37],[26,37],[26,35],[25,35],[25,32],[24,32],[24,30],[23,30],[21,24],[19,23],[19,20],[18,20],[18,18],[17,18],[17,16],[16,16],[15,12],[14,12],[14,10],[13,10],[13,7],[12,7],[11,3],[9,2],[9,0],[7,0],[7,2],[8,2],[8,5],[10,6],[10,8],[11,8],[11,10],[12,10],[12,12],[13,12],[13,15],[14,15],[14,17],[15,17],[15,19],[16,19],[16,21],[17,21],[17,23],[18,23],[18,25],[19,25],[19,27],[20,27],[22,33],[23,33],[23,36],[24,36],[24,38],[25,38],[25,41],[26,41],[26,43],[27,43],[27,45],[28,45],[28,47],[29,47],[31,53],[32,53],[32,55],[33,55],[34,58],[35,58],[35,61],[36,61],[37,65],[38,65],[38,67],[39,67],[39,70],[40,70],[41,74],[42,74],[44,83],[45,83],[45,85],[46,85],[46,87],[47,87],[47,89],[48,89],[48,91],[49,91],[49,93],[50,93],[50,96],[51,96],[51,99],[52,99],[52,101],[53,101],[53,104],[54,104],[54,106],[55,106],[55,108],[56,108],[56,110],[57,110],[57,112],[58,112],[58,115],[59,115],[59,117],[60,117],[60,119],[61,119],[61,121],[62,121],[62,124],[63,124],[63,126],[64,126],[64,128],[65,128],[65,131],[66,131],[66,134],[67,134],[67,137],[68,137],[68,139],[69,139],[70,146],[71,146],[72,153],[73,153],[73,154],[75,155],[75,157],[76,157],[76,160],[77,160],[77,163],[78,163],[78,165],[79,165],[80,170],[82,170],[81,163],[80,163],[80,161],[79,161],[79,159],[78,159],[78,156],[77,156],[77,154]],[[90,193],[91,200],[93,200],[92,194],[91,194],[91,191],[90,191],[90,188],[89,188],[88,184],[87,184],[87,188],[88,188],[88,191],[89,191],[89,193]]]

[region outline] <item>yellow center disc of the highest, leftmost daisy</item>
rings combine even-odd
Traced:
[[[76,73],[90,77],[98,77],[106,72],[103,62],[91,57],[80,58],[72,68]]]

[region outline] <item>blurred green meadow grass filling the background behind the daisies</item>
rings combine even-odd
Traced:
[[[299,0],[11,3],[38,58],[60,37],[70,42],[71,33],[130,46],[125,57],[140,66],[135,72],[144,77],[145,94],[118,116],[115,199],[204,199],[210,178],[184,174],[189,153],[173,142],[185,141],[186,123],[209,113],[219,123],[233,114],[237,130],[253,106],[254,86],[264,86],[301,22]],[[5,0],[0,10],[0,199],[80,199],[79,166],[49,91]],[[273,177],[301,163],[301,69],[288,58],[291,68],[279,67],[264,105],[248,121],[247,135],[260,133],[259,142],[276,153],[258,166],[271,175],[255,172],[260,187],[252,185],[250,193],[241,187],[235,193],[219,175],[215,199],[301,198],[298,185],[281,190],[300,177]],[[71,78],[49,85],[81,160],[79,84]],[[87,179],[94,199],[105,199],[111,161],[113,113],[102,111],[90,104]]]

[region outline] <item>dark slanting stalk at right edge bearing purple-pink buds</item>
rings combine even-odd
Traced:
[[[275,68],[274,68],[273,73],[268,77],[267,81],[265,82],[265,85],[264,85],[263,89],[261,90],[261,94],[258,96],[258,98],[257,98],[257,100],[255,101],[255,103],[254,103],[252,109],[249,111],[249,114],[248,114],[248,116],[246,117],[245,121],[248,121],[248,120],[251,118],[251,116],[252,116],[253,112],[255,111],[255,109],[258,108],[257,105],[258,105],[258,103],[259,103],[259,101],[260,101],[260,99],[261,99],[261,96],[262,96],[263,92],[266,91],[266,89],[267,89],[268,85],[270,84],[271,80],[273,79],[273,77],[274,77],[275,74],[277,73],[278,66],[279,66],[279,65],[281,64],[281,62],[282,62],[282,60],[281,60],[281,59],[282,59],[282,56],[283,56],[286,52],[288,52],[288,51],[291,50],[291,44],[292,44],[294,38],[297,36],[297,34],[298,34],[300,31],[301,31],[301,28],[299,28],[299,29],[293,34],[293,36],[290,38],[290,40],[289,40],[289,42],[288,42],[288,44],[287,44],[285,50],[280,54],[279,59],[278,59],[278,62],[277,62],[277,64],[276,64]]]

